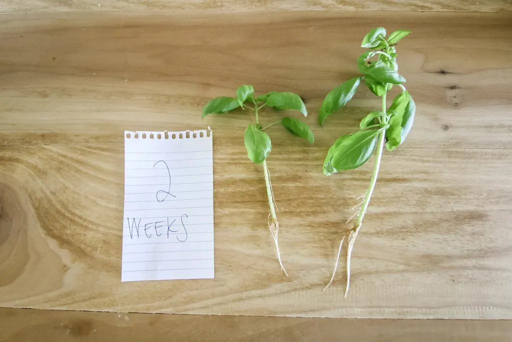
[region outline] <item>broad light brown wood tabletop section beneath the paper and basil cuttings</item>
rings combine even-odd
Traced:
[[[378,100],[361,90],[318,127],[325,94],[354,77],[366,31],[413,34],[399,64],[417,118],[383,159],[352,259],[326,292],[343,224],[371,165],[332,177],[329,145]],[[0,16],[0,306],[381,318],[512,318],[512,21],[506,14],[263,13]],[[269,130],[279,269],[250,117],[201,121],[243,83],[306,99],[316,143]],[[279,117],[266,111],[263,122]],[[213,280],[120,283],[123,130],[211,126]]]

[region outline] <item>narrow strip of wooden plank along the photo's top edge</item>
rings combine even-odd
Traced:
[[[259,11],[512,12],[510,0],[3,0],[0,12],[140,11],[221,13]]]

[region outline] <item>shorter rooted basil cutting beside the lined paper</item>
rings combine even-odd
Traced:
[[[250,109],[254,112],[255,123],[250,124],[245,130],[244,143],[247,150],[247,156],[255,164],[263,165],[263,175],[265,178],[265,185],[267,187],[268,206],[270,214],[268,215],[268,228],[274,239],[275,250],[278,255],[279,264],[281,269],[286,272],[283,262],[281,261],[281,253],[278,244],[279,221],[275,214],[274,194],[272,192],[272,184],[270,182],[270,173],[267,167],[267,157],[272,150],[270,137],[265,131],[274,126],[281,124],[288,132],[305,138],[310,144],[313,144],[315,137],[311,129],[293,117],[282,117],[281,119],[267,125],[262,126],[258,112],[263,107],[268,106],[276,110],[296,110],[301,112],[304,116],[308,115],[306,106],[301,97],[291,92],[276,92],[271,91],[261,96],[254,95],[254,88],[252,86],[243,85],[237,89],[236,97],[221,96],[216,97],[208,102],[203,108],[203,117],[208,114],[227,113],[237,108]]]

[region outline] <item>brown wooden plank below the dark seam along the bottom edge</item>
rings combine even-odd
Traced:
[[[509,342],[509,320],[325,319],[0,309],[0,341]]]

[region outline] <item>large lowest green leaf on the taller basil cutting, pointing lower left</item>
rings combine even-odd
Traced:
[[[365,164],[375,149],[379,132],[380,130],[359,131],[340,140],[329,162],[332,170],[351,170]]]

